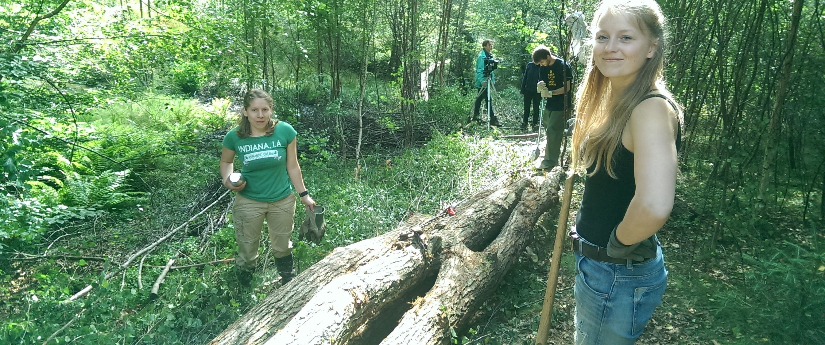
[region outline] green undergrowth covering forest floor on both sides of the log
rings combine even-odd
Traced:
[[[460,95],[441,97],[441,103],[422,109],[460,111]],[[518,121],[506,111],[500,114],[505,124]],[[206,343],[276,291],[278,277],[264,240],[252,288],[239,287],[233,265],[220,263],[172,270],[158,296],[149,294],[169,259],[187,265],[235,255],[231,198],[219,199],[226,189],[218,173],[220,139],[232,119],[229,100],[202,105],[147,95],[82,112],[77,126],[45,117],[32,121],[97,153],[71,150],[29,129],[16,133],[16,142],[7,144],[16,152],[17,170],[10,175],[15,180],[0,184],[0,343],[43,343],[69,322],[50,343]],[[413,213],[435,214],[526,163],[516,147],[491,139],[509,133],[507,128],[472,125],[441,133],[436,126],[422,146],[367,152],[356,179],[356,162],[341,161],[340,147],[328,134],[298,121],[295,126],[304,179],[326,207],[328,223],[320,245],[297,240],[304,217],[299,205],[293,238],[299,271],[337,247],[394,229]],[[823,343],[821,231],[785,220],[790,213],[768,213],[771,217],[761,221],[775,231],[736,227],[732,218],[716,251],[709,251],[714,224],[700,214],[704,173],[683,172],[680,205],[661,232],[668,289],[640,343]],[[575,212],[580,183],[573,195]],[[103,279],[130,254],[215,200],[148,253],[141,272],[135,263]],[[540,219],[529,249],[469,329],[455,329],[453,343],[535,341],[558,212],[554,208]],[[573,329],[575,269],[568,246],[563,248],[551,335],[557,343],[569,343]],[[87,296],[64,303],[89,284]]]

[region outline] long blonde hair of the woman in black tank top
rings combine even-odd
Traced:
[[[592,174],[606,169],[612,178],[613,156],[621,144],[621,134],[636,105],[652,88],[672,100],[664,82],[664,52],[667,51],[665,18],[658,3],[653,0],[603,0],[593,15],[591,32],[602,16],[625,13],[636,19],[636,24],[648,40],[658,40],[653,58],[648,58],[636,74],[636,80],[622,95],[611,95],[610,83],[596,67],[593,55],[587,61],[587,70],[576,94],[577,124],[573,132],[572,165],[575,172],[587,170],[595,164]],[[594,38],[592,38],[594,39]],[[675,103],[675,102],[674,102]],[[677,107],[678,108],[678,107]],[[681,110],[676,110],[681,124]]]

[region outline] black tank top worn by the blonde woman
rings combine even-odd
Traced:
[[[667,100],[673,110],[676,105],[660,94],[644,96],[642,100],[659,97]],[[639,101],[641,103],[641,101]],[[681,146],[681,126],[676,132],[676,150]],[[619,147],[613,153],[613,172],[616,178],[610,177],[602,167],[596,174],[587,176],[584,181],[584,195],[582,206],[576,215],[576,231],[578,235],[594,245],[607,246],[610,232],[625,218],[625,212],[636,193],[634,179],[633,152],[629,152],[625,145],[619,142]],[[591,174],[596,165],[587,168]]]

